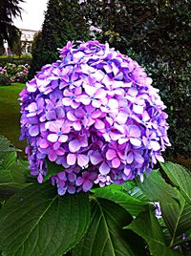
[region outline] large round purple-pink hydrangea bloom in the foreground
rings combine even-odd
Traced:
[[[47,161],[61,166],[51,177],[60,195],[142,179],[170,145],[152,79],[107,43],[68,42],[60,52],[20,94],[32,175],[42,182]]]

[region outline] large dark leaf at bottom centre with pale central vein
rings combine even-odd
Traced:
[[[92,200],[92,221],[89,230],[73,249],[74,256],[141,256],[142,240],[122,230],[133,218],[117,203],[104,199]],[[136,247],[136,249],[135,249]]]

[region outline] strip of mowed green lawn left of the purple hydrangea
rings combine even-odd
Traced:
[[[20,137],[19,93],[25,84],[12,83],[0,86],[0,134],[11,140],[17,148],[24,150],[26,142]]]

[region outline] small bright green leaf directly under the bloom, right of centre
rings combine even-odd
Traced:
[[[137,216],[148,205],[148,203],[140,202],[138,199],[129,196],[126,192],[116,189],[113,185],[97,188],[95,197],[111,200],[122,206],[133,216]]]

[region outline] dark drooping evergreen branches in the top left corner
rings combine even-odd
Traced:
[[[9,46],[20,39],[19,30],[12,24],[13,18],[20,16],[22,9],[19,7],[24,0],[0,0],[0,48],[3,41],[7,40]]]

